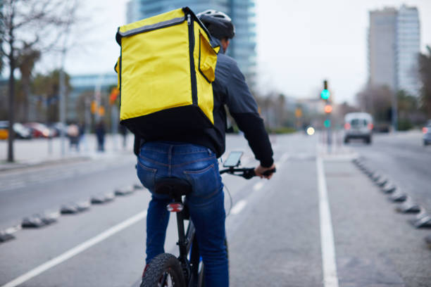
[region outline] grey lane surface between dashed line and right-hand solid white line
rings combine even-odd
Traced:
[[[316,158],[293,156],[254,192],[227,234],[232,286],[323,286],[317,186]]]

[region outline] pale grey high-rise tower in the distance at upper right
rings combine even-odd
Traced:
[[[401,6],[370,11],[368,72],[370,84],[418,95],[420,25],[418,9]]]

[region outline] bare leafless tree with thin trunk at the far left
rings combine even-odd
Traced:
[[[15,69],[31,74],[37,53],[54,49],[64,30],[70,27],[74,6],[61,0],[4,0],[1,1],[1,60],[7,60],[9,137],[8,162],[13,162],[13,123],[15,122]],[[74,2],[75,3],[75,2]],[[39,52],[38,52],[39,51]],[[25,59],[26,63],[20,62]],[[24,82],[23,82],[24,84]],[[29,84],[29,81],[25,82]],[[28,91],[28,88],[23,88]],[[26,95],[28,96],[28,95]]]

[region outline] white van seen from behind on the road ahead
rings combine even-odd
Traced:
[[[363,139],[371,144],[373,117],[369,113],[348,113],[344,116],[344,144],[350,139]]]

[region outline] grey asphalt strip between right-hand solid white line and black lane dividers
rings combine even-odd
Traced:
[[[431,286],[429,231],[414,229],[414,215],[397,213],[351,160],[329,157],[324,166],[339,286]]]

